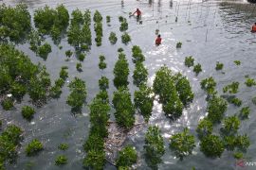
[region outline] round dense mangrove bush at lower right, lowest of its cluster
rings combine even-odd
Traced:
[[[219,136],[210,134],[202,139],[200,143],[200,150],[207,157],[220,158],[224,152],[224,144]]]

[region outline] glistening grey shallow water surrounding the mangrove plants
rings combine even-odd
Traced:
[[[247,133],[250,137],[251,145],[246,154],[247,161],[256,161],[256,124],[255,124],[255,106],[251,98],[255,96],[255,87],[248,88],[244,82],[246,75],[256,78],[256,34],[250,33],[250,26],[255,23],[256,9],[255,5],[247,4],[243,1],[230,3],[221,3],[221,1],[197,0],[174,1],[173,7],[168,0],[153,1],[132,1],[132,0],[9,0],[2,1],[9,5],[15,5],[18,2],[25,2],[32,12],[36,8],[42,8],[45,5],[56,7],[57,4],[64,4],[70,11],[75,8],[92,11],[99,9],[103,16],[110,15],[111,26],[106,26],[103,20],[103,39],[101,47],[92,45],[90,53],[82,63],[82,73],[76,70],[77,59],[64,61],[64,51],[73,49],[64,39],[61,42],[63,49],[60,50],[56,45],[52,45],[52,53],[48,59],[37,58],[35,54],[28,49],[27,44],[19,45],[34,62],[41,61],[46,64],[47,71],[51,77],[56,79],[62,66],[68,66],[69,78],[74,76],[82,77],[87,85],[87,102],[98,93],[98,79],[107,76],[110,79],[109,94],[116,90],[112,83],[113,68],[118,59],[117,50],[122,47],[129,59],[131,68],[130,91],[134,93],[135,87],[132,84],[132,73],[134,64],[131,59],[132,45],[137,44],[142,48],[146,56],[145,65],[149,69],[149,84],[152,85],[155,71],[163,64],[172,68],[174,72],[182,72],[188,76],[192,90],[195,93],[192,105],[184,110],[183,115],[176,121],[172,122],[167,119],[161,111],[161,106],[155,102],[153,116],[150,119],[150,125],[161,127],[162,135],[165,138],[166,153],[163,156],[163,163],[159,169],[239,169],[235,166],[235,160],[232,154],[225,151],[220,159],[208,159],[199,150],[198,143],[194,149],[193,155],[187,157],[184,161],[178,161],[174,158],[169,150],[169,138],[175,132],[181,131],[184,127],[189,127],[192,134],[196,135],[195,128],[200,118],[206,115],[205,101],[206,93],[200,89],[200,80],[213,76],[217,81],[217,89],[222,93],[222,88],[232,81],[240,82],[240,91],[237,94],[243,100],[243,106],[249,106],[251,109],[248,120],[243,121],[240,132]],[[155,2],[155,3],[154,3]],[[138,25],[135,18],[128,18],[128,13],[140,8],[142,10],[142,25]],[[120,42],[119,19],[123,15],[128,18],[128,32],[132,36],[132,42],[124,45]],[[178,17],[175,23],[175,16]],[[105,19],[105,18],[104,18]],[[157,23],[156,23],[157,22]],[[155,29],[160,30],[163,38],[162,45],[155,47]],[[111,31],[117,33],[119,41],[115,45],[110,45],[108,36]],[[92,29],[94,40],[95,33]],[[50,39],[47,39],[50,41]],[[176,49],[176,42],[182,42],[182,48]],[[93,42],[94,43],[94,42]],[[106,57],[107,69],[100,71],[98,69],[99,55]],[[202,64],[203,73],[194,76],[192,69],[184,66],[186,56],[193,56],[196,62]],[[224,63],[224,72],[215,71],[216,61]],[[236,66],[233,60],[241,60],[242,64]],[[63,94],[59,100],[50,100],[46,106],[37,109],[34,119],[27,123],[20,113],[21,107],[27,103],[27,100],[21,104],[16,104],[16,110],[1,110],[0,118],[4,118],[8,123],[15,123],[25,129],[25,140],[19,150],[17,163],[10,165],[8,169],[82,169],[82,144],[88,135],[89,118],[88,109],[83,108],[81,115],[74,116],[70,108],[65,104],[68,95],[67,83],[64,85]],[[226,115],[233,115],[240,108],[229,105]],[[219,127],[216,127],[216,131]],[[128,143],[134,144],[139,151],[140,156],[143,151],[144,130],[137,133],[136,136],[129,138]],[[25,145],[33,138],[43,141],[46,149],[36,157],[28,158],[25,155]],[[69,148],[66,151],[58,150],[58,144],[67,143]],[[68,158],[68,163],[63,167],[54,165],[54,159],[57,155],[64,153]],[[106,169],[115,169],[111,165],[106,165]],[[137,169],[147,169],[142,159],[141,166]],[[255,169],[255,166],[243,169]]]

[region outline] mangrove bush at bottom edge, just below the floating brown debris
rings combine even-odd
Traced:
[[[119,168],[131,168],[137,162],[137,151],[131,145],[125,146],[119,151],[117,166]]]

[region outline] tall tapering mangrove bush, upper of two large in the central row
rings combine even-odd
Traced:
[[[114,67],[114,76],[114,85],[116,88],[129,84],[129,64],[123,53],[119,53],[119,60]]]

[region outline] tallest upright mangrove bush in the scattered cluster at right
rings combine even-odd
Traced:
[[[220,123],[228,109],[226,100],[220,96],[214,95],[208,102],[208,119],[212,124]]]

